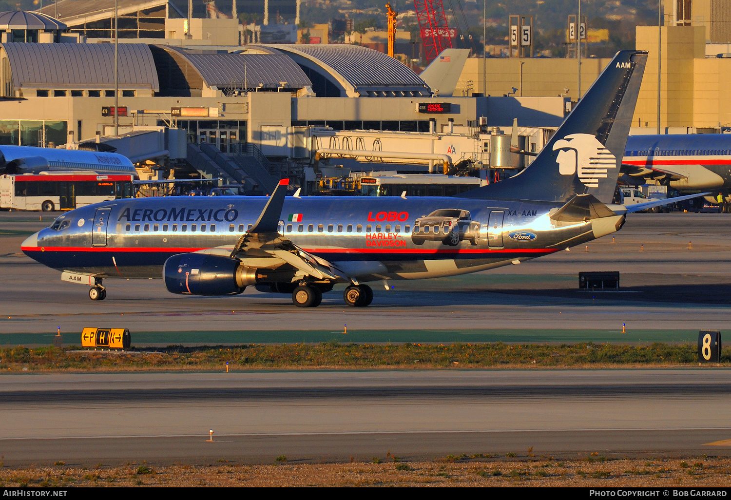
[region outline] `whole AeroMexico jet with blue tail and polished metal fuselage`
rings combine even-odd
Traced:
[[[247,286],[317,306],[346,284],[425,279],[518,264],[619,230],[608,205],[647,54],[622,51],[523,173],[459,197],[159,197],[77,208],[23,242],[62,279],[103,299],[110,279],[163,277],[170,292],[236,295]],[[685,197],[682,197],[685,199]],[[675,199],[677,200],[677,199]],[[641,210],[674,200],[633,205]]]

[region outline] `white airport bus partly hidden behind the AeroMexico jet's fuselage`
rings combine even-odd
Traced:
[[[452,177],[443,174],[396,174],[360,178],[363,196],[454,196],[484,186],[477,177]]]

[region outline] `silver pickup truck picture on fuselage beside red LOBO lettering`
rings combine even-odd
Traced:
[[[469,211],[458,208],[442,208],[414,222],[412,241],[423,245],[426,240],[442,241],[445,245],[457,246],[460,241],[469,240],[473,245],[480,242],[480,222],[473,221]]]

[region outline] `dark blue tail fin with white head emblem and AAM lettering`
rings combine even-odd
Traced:
[[[617,53],[529,167],[460,196],[567,202],[592,194],[611,203],[646,61],[646,51]]]

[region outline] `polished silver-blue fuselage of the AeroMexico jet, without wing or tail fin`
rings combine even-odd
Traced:
[[[65,213],[57,221],[70,223],[38,232],[22,249],[57,270],[104,278],[160,278],[165,260],[174,254],[236,243],[267,200],[163,197],[102,202]],[[518,263],[608,234],[606,229],[592,229],[591,221],[551,220],[550,211],[561,205],[456,197],[287,197],[279,232],[362,281],[423,279]],[[449,209],[466,211],[462,215],[469,219],[429,217]]]

